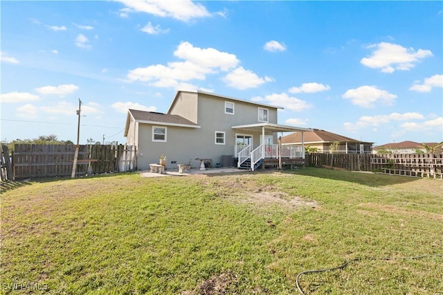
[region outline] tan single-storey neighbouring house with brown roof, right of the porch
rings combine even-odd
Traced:
[[[318,153],[329,153],[331,145],[338,142],[338,148],[334,152],[343,154],[372,153],[372,144],[367,141],[357,141],[346,136],[327,132],[325,130],[313,129],[311,132],[295,132],[282,137],[282,145],[314,147]]]

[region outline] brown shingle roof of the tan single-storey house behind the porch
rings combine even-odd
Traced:
[[[325,130],[320,130],[320,129],[314,129],[314,131],[311,132],[303,132],[303,138],[305,140],[305,143],[316,143],[316,142],[333,143],[334,141],[338,142],[346,141],[348,143],[363,142],[363,141],[357,141],[356,139],[350,137],[342,136],[339,134],[327,132]],[[301,142],[302,142],[301,132],[295,132],[282,137],[282,143],[301,143]]]

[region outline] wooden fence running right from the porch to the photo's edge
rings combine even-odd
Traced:
[[[307,154],[306,166],[443,179],[443,154]]]

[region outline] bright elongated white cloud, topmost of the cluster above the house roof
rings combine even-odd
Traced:
[[[228,71],[239,63],[234,54],[218,51],[215,48],[199,48],[189,42],[181,42],[174,56],[204,68],[219,68]]]

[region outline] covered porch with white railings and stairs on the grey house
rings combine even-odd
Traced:
[[[296,161],[297,159],[305,159],[305,145],[303,143],[303,132],[312,131],[311,128],[293,127],[274,123],[256,123],[248,125],[233,126],[232,129],[242,132],[261,132],[260,144],[253,146],[252,144],[237,145],[235,147],[235,157],[238,159],[237,168],[246,168],[255,170],[265,163],[276,163],[276,161]],[[301,146],[282,146],[278,143],[269,142],[269,136],[266,134],[278,132],[302,132]],[[278,162],[277,162],[278,163]]]

